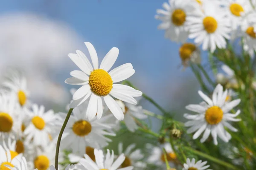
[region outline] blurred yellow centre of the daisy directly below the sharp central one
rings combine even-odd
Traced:
[[[92,131],[92,125],[86,120],[79,120],[74,123],[72,130],[78,136],[86,136]]]

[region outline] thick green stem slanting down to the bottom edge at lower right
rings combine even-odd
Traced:
[[[198,156],[202,156],[202,157],[204,157],[204,158],[206,158],[206,159],[209,159],[209,160],[211,160],[211,161],[213,161],[213,162],[215,162],[215,163],[217,163],[217,164],[223,165],[223,166],[228,167],[228,168],[231,168],[231,169],[233,169],[233,170],[239,170],[238,168],[236,168],[236,167],[233,166],[232,164],[229,164],[229,163],[227,163],[227,162],[225,162],[225,161],[221,161],[221,160],[219,160],[219,159],[217,159],[217,158],[214,158],[214,157],[212,157],[212,156],[209,156],[209,155],[207,155],[207,154],[205,154],[205,153],[202,153],[202,152],[200,152],[200,151],[198,151],[198,150],[194,150],[194,149],[192,149],[191,147],[183,147],[183,149],[188,150],[188,151],[190,151],[190,152],[192,152],[192,153],[194,153],[194,154],[196,154],[196,155],[198,155]]]

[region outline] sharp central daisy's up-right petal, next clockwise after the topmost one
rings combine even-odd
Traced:
[[[109,71],[113,64],[116,62],[116,59],[119,54],[119,49],[116,47],[111,48],[110,51],[108,51],[108,54],[103,58],[99,68]]]

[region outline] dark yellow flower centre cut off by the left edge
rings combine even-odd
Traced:
[[[13,120],[8,113],[0,113],[0,132],[10,132]]]

